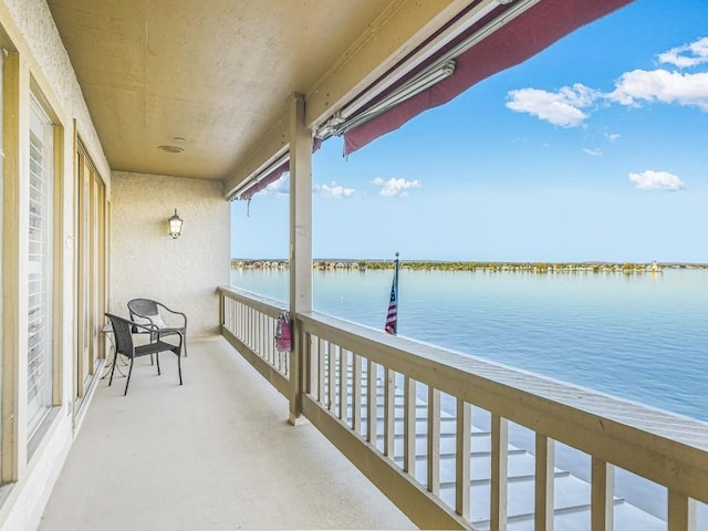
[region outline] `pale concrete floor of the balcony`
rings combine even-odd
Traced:
[[[223,339],[100,381],[40,530],[412,529]]]

